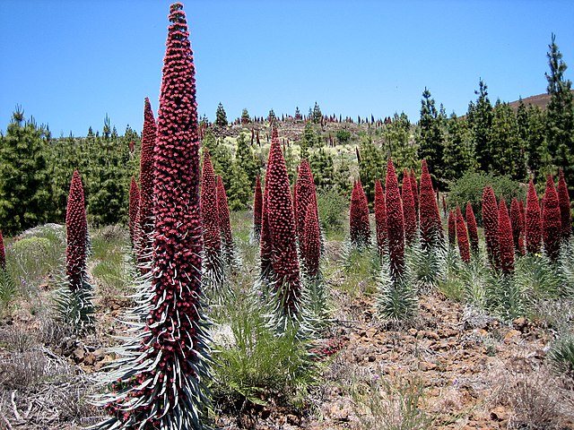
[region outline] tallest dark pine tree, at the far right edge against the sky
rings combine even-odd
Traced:
[[[570,184],[570,195],[574,193],[574,95],[570,90],[572,82],[564,79],[567,66],[552,34],[548,46],[550,74],[544,73],[548,81],[550,101],[546,107],[546,142],[554,166],[564,169],[566,182]],[[548,173],[548,172],[546,172]],[[554,172],[555,173],[555,172]]]

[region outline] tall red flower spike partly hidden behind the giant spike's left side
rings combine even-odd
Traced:
[[[135,224],[135,249],[142,271],[149,270],[152,262],[153,231],[153,149],[157,126],[150,99],[143,104],[142,153],[140,155],[140,202]]]

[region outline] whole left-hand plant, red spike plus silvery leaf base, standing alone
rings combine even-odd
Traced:
[[[91,330],[93,325],[92,287],[86,273],[88,224],[82,178],[74,170],[65,212],[66,287],[57,291],[57,311],[74,331]]]

